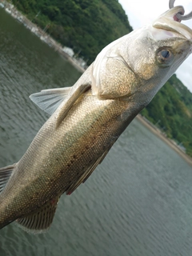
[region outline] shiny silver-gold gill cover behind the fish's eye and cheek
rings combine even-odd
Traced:
[[[92,66],[93,94],[103,98],[120,98],[134,93],[135,74],[124,52],[130,34],[111,42],[98,54]]]

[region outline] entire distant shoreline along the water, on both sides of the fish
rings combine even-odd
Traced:
[[[85,68],[81,66],[81,63],[78,61],[77,58],[71,57],[63,50],[63,46],[56,42],[54,38],[51,38],[49,34],[46,34],[45,30],[39,28],[36,24],[31,22],[26,16],[24,16],[21,12],[19,12],[15,6],[11,5],[10,2],[6,2],[5,0],[0,0],[0,3],[3,2],[3,5],[0,8],[5,9],[8,14],[10,14],[13,18],[17,19],[18,22],[22,22],[27,29],[29,29],[32,33],[36,34],[38,38],[40,38],[43,42],[53,48],[55,51],[58,51],[63,58],[65,58],[71,65],[74,66],[78,71],[81,73],[85,72]],[[164,134],[162,134],[161,130],[155,127],[150,121],[146,118],[143,118],[141,114],[136,116],[139,122],[142,123],[143,126],[146,126],[153,134],[158,136],[158,138],[162,139],[163,142],[166,142],[170,148],[172,148],[176,153],[178,153],[190,166],[192,166],[192,158],[184,151],[182,151],[177,144],[174,144],[170,138],[167,138]]]

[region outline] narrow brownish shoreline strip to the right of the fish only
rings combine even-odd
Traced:
[[[184,151],[180,150],[180,148],[176,144],[174,144],[174,142],[172,142],[170,138],[166,138],[166,136],[162,134],[161,130],[154,127],[154,125],[151,124],[149,121],[146,121],[141,114],[138,114],[136,118],[139,122],[142,123],[143,126],[146,126],[146,128],[149,129],[154,135],[160,138],[163,142],[166,142],[166,144],[170,146],[172,150],[178,153],[190,166],[192,166],[192,158],[190,158],[190,156]]]

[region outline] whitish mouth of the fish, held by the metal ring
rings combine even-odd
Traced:
[[[182,6],[175,6],[174,8],[167,10],[166,13],[162,14],[156,19],[152,26],[157,29],[167,30],[174,32],[192,42],[192,30],[181,23],[176,14],[184,14],[185,10]]]

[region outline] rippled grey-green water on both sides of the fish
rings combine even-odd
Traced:
[[[0,9],[0,166],[17,162],[48,115],[30,102],[81,74]],[[46,234],[0,230],[1,256],[190,256],[192,168],[134,120],[94,174],[63,195]]]

